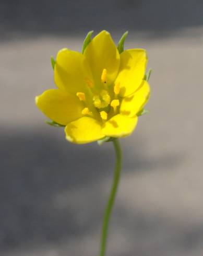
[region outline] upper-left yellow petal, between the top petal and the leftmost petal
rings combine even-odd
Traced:
[[[62,49],[56,57],[54,79],[59,89],[75,95],[78,91],[85,92],[87,81],[92,82],[93,78],[83,54]]]

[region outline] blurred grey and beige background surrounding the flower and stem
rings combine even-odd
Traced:
[[[111,256],[203,255],[201,0],[0,1],[0,255],[98,255],[111,143],[73,145],[34,97],[54,87],[50,55],[89,30],[145,48],[150,113],[122,139]]]

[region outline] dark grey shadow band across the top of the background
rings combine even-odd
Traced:
[[[145,31],[159,37],[202,25],[202,10],[201,0],[2,0],[0,31],[4,39],[10,32],[70,35],[92,29]]]

